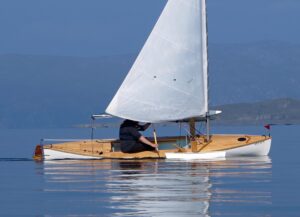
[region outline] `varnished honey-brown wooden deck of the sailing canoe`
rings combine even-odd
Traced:
[[[205,136],[197,137],[197,152],[223,151],[232,148],[242,147],[265,141],[269,139],[267,136],[253,135],[212,135],[210,142],[206,142]],[[185,137],[165,137],[158,138],[159,151],[145,151],[140,153],[122,153],[120,151],[120,143],[118,140],[86,140],[76,142],[66,142],[60,144],[44,145],[44,149],[52,149],[56,151],[79,154],[84,156],[102,157],[104,159],[143,159],[143,158],[165,158],[166,152],[191,152],[191,148],[180,148],[179,140],[185,140]],[[164,146],[168,148],[165,149]]]

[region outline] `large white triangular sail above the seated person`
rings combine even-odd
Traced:
[[[205,0],[169,0],[106,112],[152,123],[205,115],[207,65]]]

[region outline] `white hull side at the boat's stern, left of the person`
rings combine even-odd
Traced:
[[[44,149],[44,160],[63,160],[63,159],[89,160],[89,159],[102,159],[102,158],[87,156],[87,155],[71,154],[71,153],[56,151],[51,149]]]

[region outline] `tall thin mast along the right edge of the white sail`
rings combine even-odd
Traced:
[[[202,55],[203,55],[203,72],[204,72],[204,82],[206,88],[205,98],[206,98],[206,140],[207,142],[210,140],[210,120],[209,120],[209,66],[208,66],[208,27],[207,27],[207,13],[206,13],[206,0],[201,0],[201,15],[202,15]]]

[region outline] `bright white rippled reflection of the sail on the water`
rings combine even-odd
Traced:
[[[125,211],[119,215],[206,216],[211,197],[207,168],[172,164],[119,162],[119,178],[106,184],[109,191],[117,193],[111,201],[119,202],[117,208]]]

